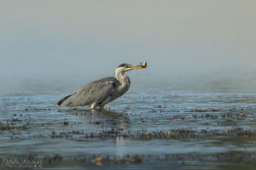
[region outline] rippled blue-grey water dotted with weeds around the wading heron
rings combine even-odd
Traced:
[[[130,89],[104,112],[54,106],[93,78],[5,78],[0,165],[17,158],[42,160],[33,165],[44,169],[255,169],[253,73],[128,75]]]

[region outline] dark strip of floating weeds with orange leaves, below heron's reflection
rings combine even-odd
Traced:
[[[68,125],[68,124],[67,124]],[[27,126],[19,126],[16,128],[11,128],[10,126],[3,126],[0,124],[0,130],[26,130]],[[18,135],[15,135],[18,137]],[[249,129],[245,130],[242,128],[233,128],[230,130],[193,130],[193,129],[169,129],[168,131],[152,131],[146,132],[145,130],[138,130],[133,132],[125,132],[124,129],[114,129],[102,130],[98,132],[84,132],[83,130],[71,130],[71,131],[52,131],[51,134],[37,134],[30,136],[29,138],[52,138],[52,139],[62,139],[62,138],[80,138],[80,139],[108,139],[108,138],[120,138],[123,139],[140,139],[140,140],[153,140],[153,139],[188,139],[188,138],[212,138],[216,136],[237,136],[237,137],[247,137],[256,138],[256,130]]]

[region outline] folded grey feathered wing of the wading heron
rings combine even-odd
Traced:
[[[73,95],[63,101],[60,106],[100,103],[112,94],[115,88],[115,81],[117,80],[113,77],[106,77],[91,82],[77,90]]]

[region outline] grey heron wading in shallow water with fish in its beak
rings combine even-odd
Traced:
[[[126,71],[146,68],[146,65],[121,64],[115,70],[116,78],[105,77],[81,87],[74,94],[61,99],[57,105],[62,106],[90,106],[91,109],[100,107],[124,95],[130,87],[130,78]]]

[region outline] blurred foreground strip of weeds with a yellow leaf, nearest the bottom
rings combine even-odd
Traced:
[[[227,152],[227,153],[214,153],[214,154],[191,154],[191,153],[169,153],[169,154],[126,154],[122,157],[117,155],[95,155],[95,154],[78,154],[78,155],[63,155],[63,154],[50,154],[50,155],[37,155],[29,154],[23,157],[16,157],[16,162],[22,162],[26,160],[27,162],[34,162],[37,166],[48,167],[48,166],[60,166],[73,167],[74,165],[88,165],[94,163],[97,166],[111,166],[116,164],[141,164],[143,167],[148,163],[157,164],[162,163],[165,165],[178,165],[185,164],[193,167],[191,162],[211,162],[211,167],[216,163],[237,163],[246,164],[255,167],[256,164],[256,154],[252,153],[241,153],[241,152]],[[182,160],[182,162],[181,162]],[[14,158],[1,158],[0,161],[14,161]],[[150,164],[150,165],[151,165]],[[217,164],[218,165],[218,164]],[[127,166],[127,165],[126,165]],[[198,168],[198,165],[196,165]],[[205,168],[205,165],[203,165]]]

